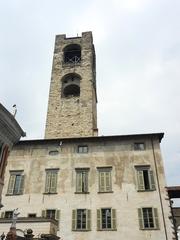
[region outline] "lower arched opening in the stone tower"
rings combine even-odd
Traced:
[[[80,76],[70,73],[62,79],[62,97],[80,96]]]

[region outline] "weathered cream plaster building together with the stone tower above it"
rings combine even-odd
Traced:
[[[92,33],[57,36],[45,139],[20,141],[11,152],[1,231],[15,205],[20,228],[34,224],[36,236],[173,239],[163,134],[97,136],[96,103]],[[47,219],[53,225],[43,227]]]

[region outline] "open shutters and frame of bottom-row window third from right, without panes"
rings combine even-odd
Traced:
[[[78,228],[78,211],[85,211],[86,212],[86,227],[85,228]],[[82,225],[82,223],[81,223]],[[86,231],[91,231],[91,210],[90,209],[73,209],[72,210],[72,231],[79,231],[79,232],[86,232]]]

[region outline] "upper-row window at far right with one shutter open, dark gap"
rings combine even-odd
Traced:
[[[136,166],[139,191],[156,190],[153,171],[150,166]]]

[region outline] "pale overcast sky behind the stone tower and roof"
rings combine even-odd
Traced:
[[[0,0],[0,101],[26,139],[44,137],[56,34],[92,31],[99,135],[164,132],[168,185],[180,185],[180,1]]]

